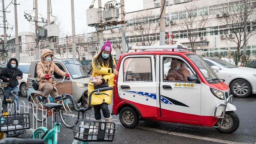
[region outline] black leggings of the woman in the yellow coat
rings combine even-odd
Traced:
[[[94,105],[94,117],[95,120],[100,120],[101,119],[101,113],[100,113],[100,109],[102,110],[102,114],[105,118],[109,118],[110,117],[110,112],[108,109],[108,104],[106,103],[102,103],[99,105]]]

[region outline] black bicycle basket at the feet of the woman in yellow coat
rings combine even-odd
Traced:
[[[78,120],[78,125],[74,125],[74,139],[82,142],[104,142],[113,141],[115,136],[115,123],[82,121]]]

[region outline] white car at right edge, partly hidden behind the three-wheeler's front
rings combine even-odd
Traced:
[[[225,80],[235,97],[256,94],[256,69],[238,67],[218,58],[204,57],[203,59],[220,79]]]

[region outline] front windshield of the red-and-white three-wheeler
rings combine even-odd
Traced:
[[[194,62],[197,68],[204,75],[205,79],[209,83],[219,83],[219,80],[216,73],[211,69],[211,67],[197,54],[187,54],[187,56]]]

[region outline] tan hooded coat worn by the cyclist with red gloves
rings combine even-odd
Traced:
[[[44,59],[44,57],[49,54],[52,55],[51,61],[47,61]],[[53,62],[53,58],[54,58],[54,53],[51,50],[42,49],[41,61],[37,64],[37,78],[36,78],[36,80],[39,83],[38,90],[40,90],[40,91],[47,83],[52,84],[54,90],[57,91],[57,89],[56,89],[57,83],[52,78],[50,78],[49,80],[46,80],[44,77],[46,74],[49,74],[50,77],[53,75],[54,72],[56,72],[57,74],[59,74],[63,77],[66,74],[64,71],[59,69],[58,66],[56,66],[56,64]]]

